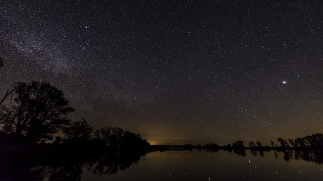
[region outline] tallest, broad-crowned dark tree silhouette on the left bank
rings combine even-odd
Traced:
[[[2,106],[0,125],[4,136],[24,138],[30,143],[52,140],[52,134],[62,131],[74,109],[62,91],[47,82],[17,82],[13,103]]]

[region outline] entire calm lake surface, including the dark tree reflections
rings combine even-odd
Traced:
[[[0,180],[322,180],[323,151],[164,151],[2,157]]]

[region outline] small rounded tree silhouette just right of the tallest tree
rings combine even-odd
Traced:
[[[84,120],[74,121],[64,129],[70,140],[88,140],[91,138],[92,127]]]

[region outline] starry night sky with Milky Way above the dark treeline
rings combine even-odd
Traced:
[[[62,89],[95,129],[151,144],[323,129],[322,1],[0,1],[0,93]]]

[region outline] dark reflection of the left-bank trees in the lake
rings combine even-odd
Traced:
[[[119,170],[125,170],[131,164],[137,163],[146,152],[109,152],[101,155],[91,155],[88,158],[71,158],[68,156],[50,158],[49,162],[43,163],[40,160],[32,162],[0,163],[0,180],[81,180],[84,170],[97,175],[114,174]],[[14,163],[20,163],[16,166]],[[10,165],[12,164],[12,165]],[[7,169],[5,169],[7,167]]]

